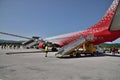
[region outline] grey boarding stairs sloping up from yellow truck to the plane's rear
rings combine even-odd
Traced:
[[[77,40],[60,48],[55,55],[59,57],[63,57],[64,55],[70,55],[71,52],[73,52],[75,49],[80,48],[84,43],[90,40],[93,40],[93,35],[89,35],[87,38],[84,38],[84,36],[80,36]]]

